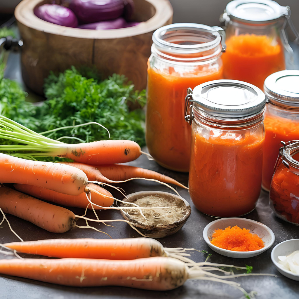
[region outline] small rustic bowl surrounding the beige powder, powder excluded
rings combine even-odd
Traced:
[[[170,202],[173,202],[173,201],[181,202],[181,204],[186,207],[185,215],[179,221],[176,221],[176,222],[173,222],[173,223],[167,224],[167,225],[159,224],[157,226],[145,225],[143,223],[135,221],[134,219],[132,219],[132,217],[128,213],[126,213],[126,210],[121,210],[121,214],[122,214],[123,218],[130,221],[142,234],[144,234],[148,237],[164,238],[164,237],[170,236],[170,235],[178,232],[182,228],[182,226],[185,224],[185,222],[187,221],[187,219],[189,218],[189,216],[191,214],[190,204],[187,202],[187,200],[183,199],[182,197],[177,196],[172,193],[168,193],[168,192],[141,191],[141,192],[136,192],[136,193],[127,195],[127,199],[124,198],[123,201],[135,202],[137,199],[140,199],[141,197],[151,196],[151,195],[152,196],[154,196],[154,195],[161,196],[164,199],[169,200]],[[121,204],[121,206],[127,206],[127,205]]]

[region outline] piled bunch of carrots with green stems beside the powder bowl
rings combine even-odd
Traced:
[[[100,184],[111,186],[112,183],[143,178],[186,188],[176,180],[155,171],[116,164],[133,161],[141,155],[141,148],[134,141],[105,140],[65,144],[37,134],[3,116],[0,116],[0,120],[0,137],[19,143],[0,145],[0,183],[13,183],[15,188],[0,187],[0,209],[47,231],[66,232],[77,226],[76,217],[93,219],[75,215],[66,208],[42,200],[94,211],[132,209],[132,206],[138,206],[124,202],[130,207],[113,207],[114,201],[120,200],[115,199]],[[74,162],[28,160],[51,155],[66,157]],[[142,213],[141,208],[140,212]],[[100,222],[99,219],[98,221]]]

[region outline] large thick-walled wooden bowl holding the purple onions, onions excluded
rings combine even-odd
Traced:
[[[153,32],[171,24],[173,8],[168,0],[134,0],[132,20],[140,25],[112,30],[68,28],[45,22],[33,13],[36,6],[52,0],[23,0],[15,10],[22,47],[21,65],[25,84],[43,94],[44,78],[50,71],[95,66],[103,78],[124,74],[136,89],[147,84],[147,59]],[[61,0],[55,0],[61,4]]]

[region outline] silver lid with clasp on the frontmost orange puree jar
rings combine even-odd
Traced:
[[[190,91],[189,98],[188,103],[193,102],[195,109],[217,119],[248,118],[262,112],[266,104],[263,91],[237,80],[214,80],[200,84]],[[188,103],[185,103],[186,115]]]

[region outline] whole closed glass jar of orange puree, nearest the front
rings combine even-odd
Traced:
[[[237,80],[204,83],[187,95],[189,191],[201,212],[234,217],[255,208],[262,183],[265,104],[260,89]]]

